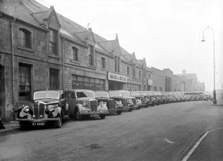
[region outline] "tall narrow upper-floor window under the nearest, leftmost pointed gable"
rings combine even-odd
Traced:
[[[57,33],[52,29],[50,29],[49,33],[49,52],[53,55],[57,55]]]

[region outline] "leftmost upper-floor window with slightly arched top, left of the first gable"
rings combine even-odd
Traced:
[[[31,32],[21,28],[19,29],[19,40],[20,40],[20,46],[31,48]]]

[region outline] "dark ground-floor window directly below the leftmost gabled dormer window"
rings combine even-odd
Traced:
[[[50,68],[50,89],[59,89],[59,69]]]

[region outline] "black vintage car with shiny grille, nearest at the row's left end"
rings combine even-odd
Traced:
[[[55,127],[60,128],[65,119],[69,119],[69,111],[62,90],[34,91],[33,102],[23,104],[17,110],[20,128],[48,123],[54,123]]]

